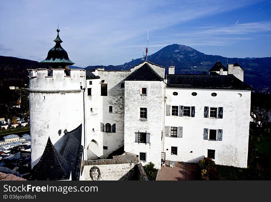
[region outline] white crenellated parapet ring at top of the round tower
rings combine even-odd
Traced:
[[[66,76],[65,69],[28,69],[29,90],[40,92],[78,91],[85,87],[86,70],[70,69]]]

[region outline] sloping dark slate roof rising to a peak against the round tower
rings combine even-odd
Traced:
[[[71,180],[79,180],[83,146],[82,124],[64,135],[59,153],[72,164]]]

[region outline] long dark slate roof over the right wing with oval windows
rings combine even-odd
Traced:
[[[233,75],[167,74],[167,87],[252,90]]]

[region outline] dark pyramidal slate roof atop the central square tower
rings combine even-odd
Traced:
[[[127,76],[124,81],[163,81],[148,63],[145,63],[140,68]]]

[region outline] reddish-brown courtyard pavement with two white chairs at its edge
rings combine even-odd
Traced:
[[[169,167],[169,161],[166,160],[166,166],[161,166],[158,170],[156,180],[200,180],[197,177],[198,164],[184,164],[176,162],[173,168]]]

